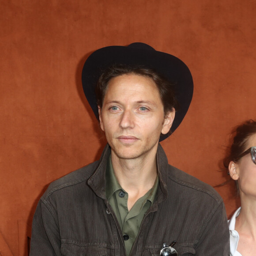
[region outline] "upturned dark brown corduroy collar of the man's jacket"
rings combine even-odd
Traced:
[[[106,166],[107,159],[111,153],[111,148],[109,144],[107,144],[102,152],[102,156],[99,160],[98,167],[92,174],[92,176],[88,180],[88,185],[94,193],[100,198],[106,200],[105,196],[105,188],[106,188]],[[157,169],[158,169],[158,177],[159,177],[159,186],[157,191],[156,202],[160,203],[167,197],[167,185],[166,181],[168,181],[168,160],[166,154],[160,144],[158,144],[157,149]],[[154,210],[154,208],[152,209]]]

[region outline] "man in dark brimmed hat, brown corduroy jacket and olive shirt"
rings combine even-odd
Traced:
[[[186,65],[143,43],[110,46],[90,55],[82,82],[108,145],[99,161],[50,184],[30,256],[228,256],[221,197],[168,165],[158,143],[191,102]]]

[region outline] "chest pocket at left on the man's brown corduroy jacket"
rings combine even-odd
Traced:
[[[103,245],[76,245],[71,243],[61,244],[61,255],[63,256],[114,256],[114,248]]]

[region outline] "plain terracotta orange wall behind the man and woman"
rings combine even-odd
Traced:
[[[1,255],[27,255],[48,184],[102,151],[80,79],[98,48],[142,41],[188,65],[192,104],[162,146],[200,180],[228,179],[219,164],[230,130],[256,118],[256,1],[2,0],[0,10]],[[230,216],[239,206],[232,184],[216,189]]]

